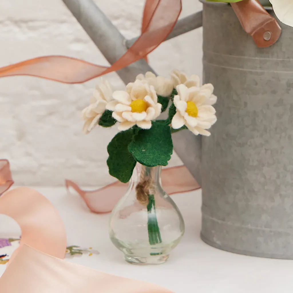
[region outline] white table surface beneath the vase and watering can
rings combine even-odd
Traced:
[[[93,214],[78,195],[65,188],[35,188],[57,208],[67,231],[68,245],[93,247],[99,255],[68,259],[113,275],[144,280],[176,293],[293,292],[293,261],[256,258],[221,251],[200,239],[201,192],[173,195],[185,220],[185,235],[162,265],[137,266],[123,260],[108,237],[109,214]],[[0,217],[0,237],[16,229]],[[293,245],[293,243],[292,243]],[[0,266],[0,275],[5,265]],[[0,290],[1,291],[1,290]]]

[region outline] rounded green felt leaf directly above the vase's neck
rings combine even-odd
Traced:
[[[128,150],[144,166],[167,166],[173,152],[170,126],[153,122],[151,129],[139,130]]]

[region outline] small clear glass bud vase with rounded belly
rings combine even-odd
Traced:
[[[112,211],[110,239],[134,264],[160,264],[184,234],[182,215],[161,185],[161,166],[137,164],[129,187]]]

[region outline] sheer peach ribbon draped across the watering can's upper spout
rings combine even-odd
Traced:
[[[146,58],[173,30],[182,8],[181,0],[146,0],[142,33],[111,67],[67,56],[43,56],[0,68],[0,77],[29,75],[67,84],[96,78]]]

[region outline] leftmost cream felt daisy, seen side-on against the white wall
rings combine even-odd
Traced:
[[[100,117],[106,110],[106,105],[112,98],[112,88],[108,81],[103,81],[96,86],[93,96],[90,100],[90,105],[81,113],[81,118],[84,120],[83,132],[88,134],[99,122]]]

